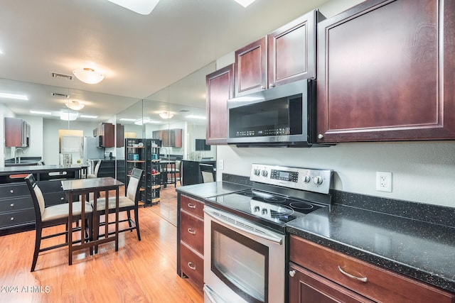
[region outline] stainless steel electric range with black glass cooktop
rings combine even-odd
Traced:
[[[331,205],[332,170],[253,164],[250,180],[205,204],[205,302],[284,302],[286,224]]]

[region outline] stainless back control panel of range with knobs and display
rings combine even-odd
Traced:
[[[310,192],[328,194],[333,170],[252,164],[250,180]]]

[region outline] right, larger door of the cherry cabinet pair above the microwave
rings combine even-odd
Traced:
[[[319,15],[319,11],[311,11],[267,35],[269,88],[316,77]]]

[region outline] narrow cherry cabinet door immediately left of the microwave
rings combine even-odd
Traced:
[[[207,92],[208,144],[226,143],[228,138],[228,99],[234,90],[234,65],[228,65],[205,77]]]

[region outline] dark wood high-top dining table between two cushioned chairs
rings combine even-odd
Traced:
[[[65,192],[66,200],[68,201],[68,207],[70,208],[68,216],[68,264],[73,264],[73,251],[80,250],[83,248],[97,247],[102,243],[109,241],[115,241],[115,251],[119,250],[119,187],[124,185],[122,182],[114,179],[113,177],[99,177],[90,179],[75,179],[75,180],[62,180],[63,191]],[[109,190],[115,191],[115,233],[113,236],[109,236],[108,225],[109,225]],[[106,207],[105,207],[105,238],[99,239],[98,233],[100,224],[97,216],[97,197],[100,192],[105,192]],[[88,242],[83,241],[85,238],[85,202],[88,199],[89,194],[93,193],[93,216],[92,226],[93,235],[90,236]],[[80,244],[75,245],[73,243],[73,233],[71,232],[70,226],[73,224],[73,197],[79,195],[82,199],[81,209],[81,231],[80,231]],[[95,250],[96,253],[96,250]]]

